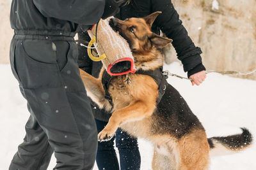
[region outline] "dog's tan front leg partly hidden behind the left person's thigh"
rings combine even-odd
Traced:
[[[97,79],[80,69],[80,76],[83,80],[87,95],[96,103],[99,108],[111,108],[109,101],[105,99],[105,90],[100,79]]]

